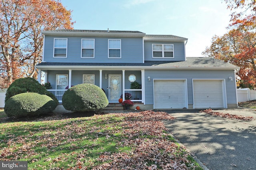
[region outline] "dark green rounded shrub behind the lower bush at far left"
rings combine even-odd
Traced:
[[[46,88],[34,78],[27,77],[16,79],[6,91],[5,102],[16,94],[26,92],[46,94]]]

